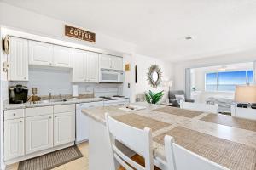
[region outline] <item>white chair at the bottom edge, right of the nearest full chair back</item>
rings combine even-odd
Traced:
[[[171,136],[165,136],[165,150],[168,169],[172,170],[228,170],[217,163],[175,144]]]

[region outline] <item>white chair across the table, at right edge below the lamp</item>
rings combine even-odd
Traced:
[[[231,105],[231,116],[256,120],[256,109],[236,107]]]

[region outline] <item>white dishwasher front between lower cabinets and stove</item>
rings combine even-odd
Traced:
[[[101,106],[103,101],[76,104],[76,144],[89,140],[88,116],[82,113],[82,110]]]

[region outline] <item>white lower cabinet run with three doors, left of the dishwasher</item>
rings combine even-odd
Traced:
[[[4,111],[4,161],[22,161],[75,141],[75,105]],[[66,145],[65,145],[66,144]]]

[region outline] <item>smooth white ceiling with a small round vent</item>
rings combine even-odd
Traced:
[[[174,62],[256,47],[255,0],[3,2],[134,43],[137,54]]]

